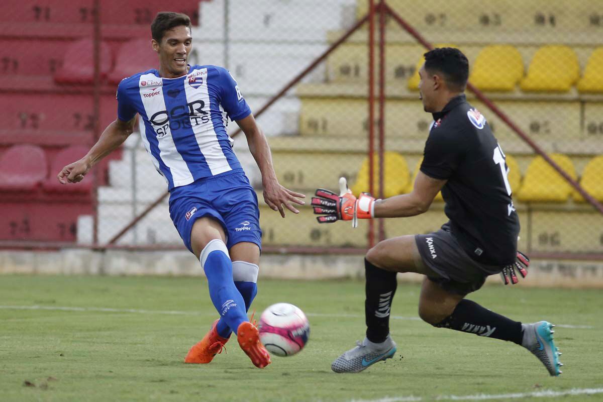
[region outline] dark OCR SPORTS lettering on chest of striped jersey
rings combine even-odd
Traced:
[[[188,102],[186,105],[177,105],[169,112],[167,110],[158,111],[149,121],[154,126],[161,126],[155,129],[157,137],[162,138],[170,130],[180,130],[181,128],[191,128],[194,125],[206,124],[210,122],[209,112],[203,110],[205,102],[201,99]]]

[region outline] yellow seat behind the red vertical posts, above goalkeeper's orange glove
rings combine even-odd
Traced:
[[[384,197],[388,198],[394,195],[403,194],[408,187],[410,173],[408,171],[408,163],[406,159],[397,152],[384,153]],[[379,196],[379,155],[374,155],[374,196]],[[361,192],[368,192],[368,158],[362,161],[356,183],[352,186],[352,192],[358,196]]]

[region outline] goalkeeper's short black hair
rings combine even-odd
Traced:
[[[426,70],[441,72],[450,89],[465,90],[469,79],[469,60],[463,52],[455,48],[435,48],[423,56]]]

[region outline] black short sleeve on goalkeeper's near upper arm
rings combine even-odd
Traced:
[[[458,168],[463,152],[459,136],[446,133],[441,128],[432,129],[425,143],[421,172],[431,178],[447,180]]]

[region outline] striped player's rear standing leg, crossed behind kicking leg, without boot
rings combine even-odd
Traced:
[[[240,242],[233,245],[229,253],[230,259],[232,259],[233,281],[245,301],[245,310],[248,312],[257,294],[260,249],[256,243]],[[229,338],[232,333],[224,319],[219,320],[216,328],[218,334],[223,338]]]

